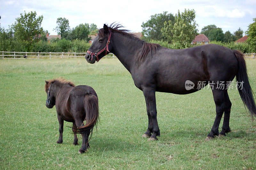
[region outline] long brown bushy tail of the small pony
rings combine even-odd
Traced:
[[[99,117],[98,97],[93,94],[87,94],[84,98],[84,110],[86,113],[86,123],[84,127],[77,127],[76,133],[86,134],[90,131],[92,136],[93,127],[97,125],[97,120]]]

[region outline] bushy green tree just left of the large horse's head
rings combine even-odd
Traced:
[[[90,38],[88,38],[90,31],[89,31],[89,24],[79,24],[75,28],[73,28],[70,32],[70,34],[67,36],[67,39],[69,40],[86,40],[89,41]]]

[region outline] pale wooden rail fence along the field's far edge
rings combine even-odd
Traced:
[[[52,57],[57,58],[68,58],[68,57],[84,57],[86,52],[9,52],[9,51],[0,51],[1,59],[42,59],[42,57]],[[111,56],[109,56],[111,55]],[[255,53],[244,54],[244,58],[256,58]],[[12,57],[12,58],[8,58]],[[39,58],[40,57],[40,58]],[[115,58],[116,56],[113,53],[109,53],[105,58]]]

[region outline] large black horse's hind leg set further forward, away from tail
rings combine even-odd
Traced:
[[[224,100],[224,91],[225,90],[219,90],[219,89],[213,89],[213,99],[216,105],[216,118],[214,120],[212,130],[207,135],[205,140],[210,140],[215,135],[219,135],[219,126],[220,126],[220,120],[223,115],[223,112],[225,110],[225,100]]]

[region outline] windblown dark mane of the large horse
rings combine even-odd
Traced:
[[[141,40],[140,38],[136,37],[134,34],[132,34],[129,30],[127,29],[118,29],[118,28],[123,28],[122,25],[117,24],[117,23],[112,23],[110,24],[110,26],[108,26],[108,29],[111,32],[117,32],[117,33],[121,33],[123,35],[126,35],[127,37],[130,37],[136,41],[138,41],[138,43],[142,43],[142,51],[140,53],[140,55],[138,56],[139,59],[143,59],[144,56],[148,55],[149,52],[153,51],[155,53],[155,51],[157,50],[157,47],[159,47],[159,44],[156,43],[148,43],[144,40]],[[104,36],[104,29],[101,28],[99,29],[99,35],[100,36]]]

